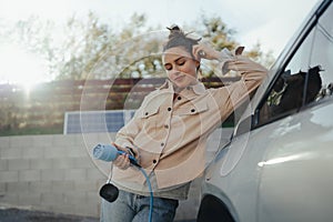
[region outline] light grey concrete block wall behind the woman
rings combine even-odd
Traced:
[[[222,137],[221,137],[221,132]],[[230,137],[215,131],[209,155]],[[114,134],[22,135],[0,138],[0,206],[99,218],[99,189],[110,164],[91,158],[93,145]],[[199,208],[200,179],[189,200],[180,203],[176,219],[193,219]]]

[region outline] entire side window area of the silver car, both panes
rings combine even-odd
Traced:
[[[256,125],[333,94],[333,4],[317,20],[256,110]]]

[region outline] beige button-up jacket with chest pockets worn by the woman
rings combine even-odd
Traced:
[[[159,189],[192,181],[205,165],[209,134],[255,90],[268,70],[243,56],[228,62],[242,79],[228,87],[205,89],[202,83],[175,95],[170,81],[145,97],[132,120],[115,137],[115,143],[132,148],[148,173],[154,171]],[[113,168],[115,182],[143,184],[133,168]]]

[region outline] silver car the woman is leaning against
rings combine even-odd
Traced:
[[[323,0],[208,167],[198,221],[332,222],[332,93],[333,3]]]

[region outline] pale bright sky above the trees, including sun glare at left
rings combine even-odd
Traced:
[[[201,14],[221,17],[236,31],[235,40],[278,57],[317,0],[0,0],[0,22],[24,20],[31,14],[63,22],[69,17],[94,12],[112,28],[120,28],[134,13],[144,13],[148,23],[167,27],[192,24]],[[296,9],[296,10],[295,10]],[[0,83],[31,87],[47,81],[46,64],[18,46],[0,42]],[[19,62],[19,65],[18,65]],[[27,77],[23,73],[34,73]]]

